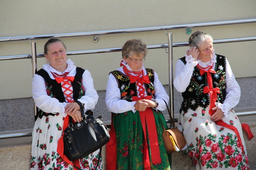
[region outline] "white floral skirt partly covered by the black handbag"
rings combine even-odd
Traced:
[[[62,126],[63,117],[58,113],[55,116],[43,116],[42,119],[38,118],[35,121],[32,132],[31,169],[73,170],[73,166],[63,161],[57,153],[57,144],[62,135]],[[99,150],[80,159],[81,169],[94,169],[98,158]],[[101,163],[101,156],[100,159]],[[100,169],[102,169],[102,165],[100,165]]]

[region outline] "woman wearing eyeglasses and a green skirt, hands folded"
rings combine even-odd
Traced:
[[[120,68],[110,72],[106,106],[112,113],[107,169],[170,169],[171,154],[162,140],[161,111],[169,101],[158,75],[144,68],[147,47],[140,39],[122,47]]]

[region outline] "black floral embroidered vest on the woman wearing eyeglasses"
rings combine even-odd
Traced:
[[[151,83],[144,83],[146,93],[148,96],[152,96],[154,99],[154,80],[155,80],[155,74],[153,69],[146,68],[148,77],[150,79]],[[120,89],[120,94],[121,94],[121,99],[122,100],[127,100],[129,102],[132,101],[133,96],[138,96],[138,91],[137,91],[137,86],[136,82],[131,83],[129,76],[123,74],[122,72],[118,70],[114,70],[110,72],[111,74],[114,75],[118,88]]]

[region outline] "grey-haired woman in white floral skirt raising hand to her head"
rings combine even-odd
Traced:
[[[242,126],[233,111],[240,87],[227,58],[214,53],[213,39],[197,31],[176,63],[174,86],[182,92],[178,128],[196,169],[248,169]],[[250,133],[249,138],[253,135]]]

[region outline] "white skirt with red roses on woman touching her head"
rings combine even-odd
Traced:
[[[188,109],[178,118],[178,128],[183,131],[188,149],[185,151],[196,169],[249,169],[246,147],[241,123],[234,113],[222,120],[237,128],[242,143],[236,133],[211,121],[209,106],[198,107],[196,111]],[[242,145],[244,152],[242,152]]]

